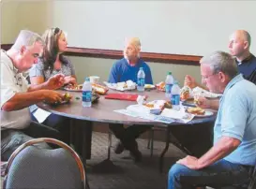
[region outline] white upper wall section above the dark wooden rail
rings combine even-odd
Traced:
[[[55,1],[52,24],[68,31],[70,46],[121,50],[126,36],[139,36],[143,51],[203,55],[227,51],[236,29],[256,36],[255,7],[256,1]]]

